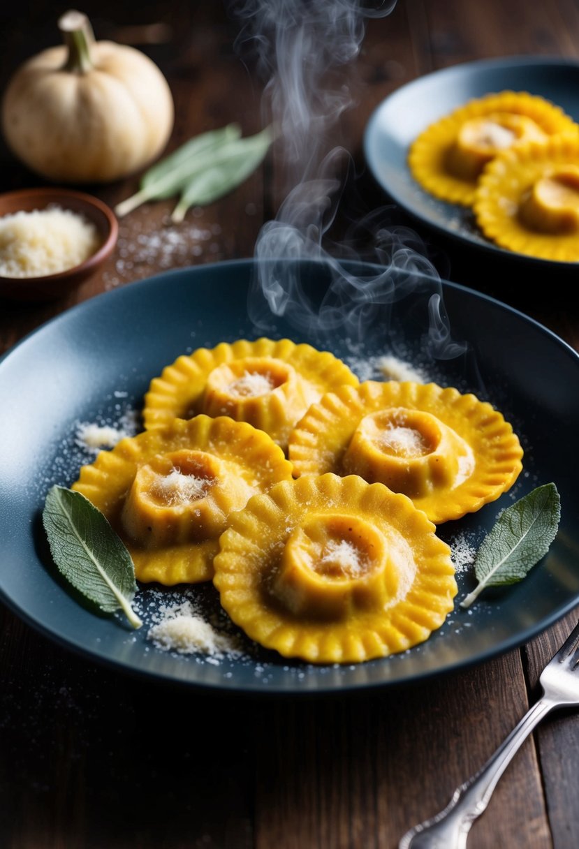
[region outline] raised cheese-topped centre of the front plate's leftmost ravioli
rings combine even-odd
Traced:
[[[188,449],[159,454],[135,473],[121,513],[123,530],[143,548],[214,539],[226,524],[223,481],[237,509],[243,507],[250,486],[239,475],[228,475],[222,459]]]

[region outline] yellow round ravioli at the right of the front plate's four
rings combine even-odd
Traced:
[[[488,402],[413,381],[367,380],[329,392],[290,436],[294,475],[360,475],[403,492],[436,524],[506,492],[523,456]]]

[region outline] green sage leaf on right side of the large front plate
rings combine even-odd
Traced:
[[[475,556],[477,586],[461,601],[469,607],[486,587],[519,582],[548,552],[559,528],[560,498],[554,483],[537,486],[499,515]]]

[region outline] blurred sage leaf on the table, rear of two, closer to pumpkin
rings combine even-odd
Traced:
[[[117,204],[115,214],[121,218],[147,200],[164,200],[179,194],[194,173],[211,165],[213,155],[222,144],[228,144],[240,135],[238,124],[228,124],[227,127],[189,138],[181,147],[145,171],[138,192]]]

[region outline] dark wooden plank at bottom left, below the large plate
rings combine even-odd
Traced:
[[[3,849],[250,849],[250,708],[0,631]]]

